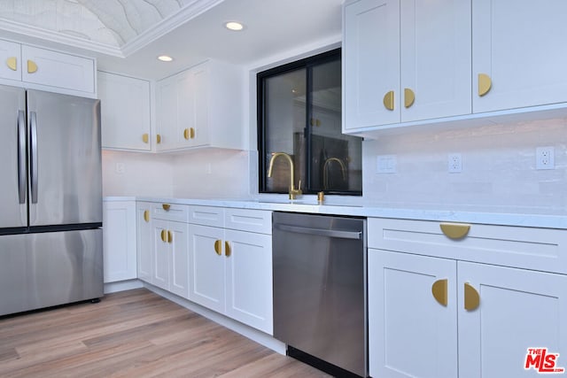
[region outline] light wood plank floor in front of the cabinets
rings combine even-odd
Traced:
[[[326,377],[147,289],[0,319],[1,377]]]

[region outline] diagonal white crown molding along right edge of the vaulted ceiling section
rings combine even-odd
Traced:
[[[141,35],[136,36],[129,42],[126,42],[121,49],[123,57],[135,53],[137,50],[144,48],[159,37],[167,35],[176,27],[182,26],[184,23],[194,19],[199,14],[208,11],[214,6],[221,4],[224,0],[194,0],[191,4],[185,5],[179,12],[163,19],[155,27],[144,31]]]

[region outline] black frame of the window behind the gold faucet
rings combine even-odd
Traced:
[[[266,153],[266,109],[264,101],[265,93],[265,81],[270,77],[274,77],[279,74],[288,73],[291,71],[296,71],[299,69],[306,70],[306,120],[304,128],[304,136],[306,137],[306,177],[311,180],[311,164],[308,163],[311,159],[312,154],[312,141],[311,141],[311,124],[309,120],[313,117],[313,74],[312,70],[314,66],[319,66],[328,63],[333,60],[341,60],[341,48],[329,50],[322,52],[320,54],[314,55],[308,58],[302,58],[297,61],[284,64],[282,66],[276,66],[270,68],[266,71],[262,71],[256,74],[256,119],[257,119],[257,148],[258,148],[258,192],[260,194],[287,194],[287,191],[268,191],[266,189],[266,178],[268,175],[268,166],[264,155]],[[342,110],[341,110],[342,112]],[[341,116],[342,119],[342,116]],[[303,189],[303,188],[302,188]],[[316,194],[318,190],[310,190],[311,183],[308,182],[303,190],[304,194]],[[342,191],[342,190],[324,190],[325,194],[330,195],[341,195],[341,196],[362,196],[362,190],[355,191]]]

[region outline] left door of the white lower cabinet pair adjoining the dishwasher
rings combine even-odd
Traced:
[[[222,228],[190,225],[189,299],[224,313],[225,260]],[[215,250],[215,243],[217,249]]]

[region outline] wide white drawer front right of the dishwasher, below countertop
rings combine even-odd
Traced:
[[[444,222],[369,219],[369,248],[485,264],[567,273],[567,230],[470,224],[467,235],[451,239]],[[458,224],[450,223],[446,224]]]

